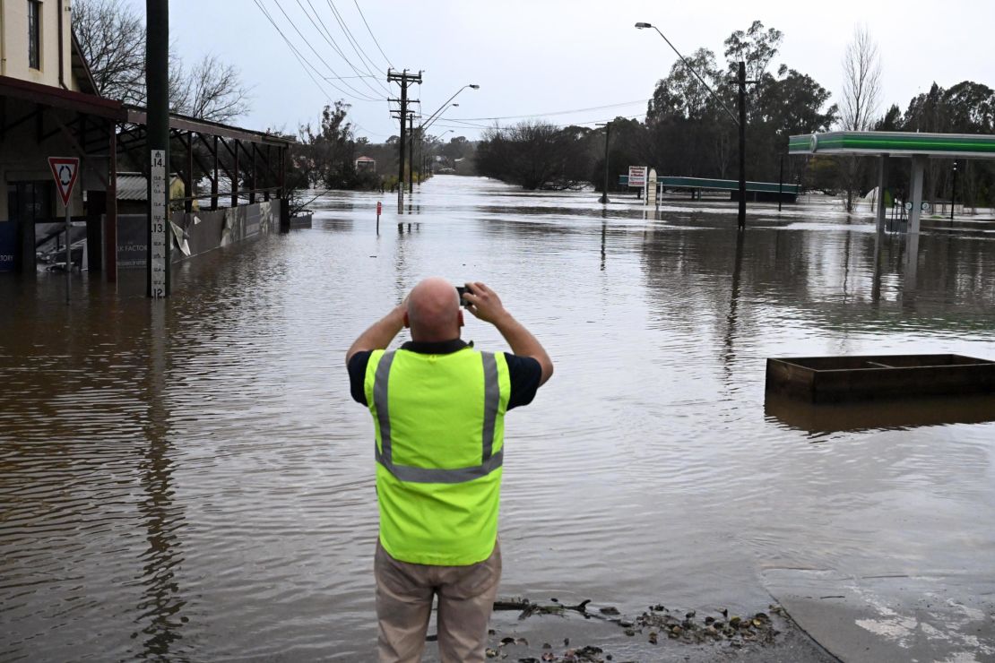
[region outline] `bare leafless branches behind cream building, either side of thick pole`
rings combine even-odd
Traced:
[[[145,26],[122,0],[77,0],[73,31],[101,96],[145,102]],[[250,90],[234,66],[208,54],[187,69],[169,55],[169,109],[199,119],[230,121],[249,110]]]

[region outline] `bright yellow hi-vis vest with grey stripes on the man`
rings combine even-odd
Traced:
[[[462,567],[491,557],[510,385],[503,353],[370,354],[363,389],[380,544],[392,558]]]

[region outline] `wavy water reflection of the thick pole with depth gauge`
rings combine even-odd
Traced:
[[[147,658],[169,658],[170,645],[180,638],[179,629],[185,617],[180,610],[186,601],[179,591],[174,570],[183,558],[179,551],[176,531],[182,515],[172,503],[172,460],[169,458],[168,413],[164,399],[166,387],[166,303],[150,302],[151,328],[149,373],[146,399],[148,419],[145,437],[148,441],[139,465],[145,500],[138,510],[145,521],[148,549],[142,556],[141,584],[144,587],[138,603],[138,619],[148,620],[142,629],[144,654]]]

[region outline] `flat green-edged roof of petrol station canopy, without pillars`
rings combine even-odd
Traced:
[[[828,131],[791,136],[788,154],[995,159],[995,136],[908,131]]]

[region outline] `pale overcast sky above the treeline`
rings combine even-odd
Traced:
[[[144,13],[144,2],[129,1]],[[313,70],[298,62],[256,2]],[[844,49],[855,26],[864,24],[881,51],[880,114],[892,103],[904,110],[913,95],[934,81],[944,87],[964,80],[995,87],[995,3],[990,0],[358,0],[386,58],[367,31],[356,0],[172,0],[169,5],[171,39],[185,60],[214,52],[236,64],[253,85],[252,110],[238,124],[293,131],[301,122],[316,123],[325,103],[342,98],[351,104],[356,134],[374,142],[398,132],[382,86],[387,85],[388,60],[396,69],[422,70],[424,83],[413,86],[412,93],[421,99],[426,116],[462,85],[481,85],[463,90],[456,98],[460,106],[450,108],[430,130],[440,134],[454,128],[446,140],[479,136],[480,128],[454,121],[458,119],[489,125],[493,121],[476,118],[544,115],[556,124],[591,124],[617,115],[642,118],[655,83],[667,75],[676,56],[656,32],[636,30],[637,21],[659,26],[686,56],[704,47],[721,63],[723,40],[760,20],[784,33],[771,70],[776,73],[783,63],[808,74],[833,93],[833,100],[842,86]],[[316,12],[311,20],[327,34],[310,23],[301,6]],[[371,64],[353,50],[332,8]],[[356,77],[353,67],[377,78],[319,78]],[[397,85],[390,88],[390,96],[397,96]],[[598,108],[612,104],[619,105]],[[561,112],[570,110],[576,112]]]

